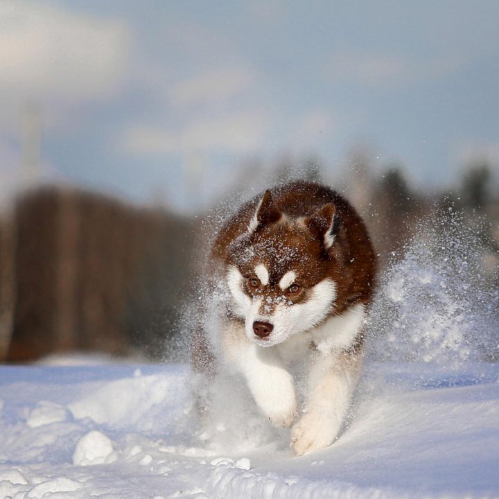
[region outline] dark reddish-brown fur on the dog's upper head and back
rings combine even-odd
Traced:
[[[270,276],[271,285],[282,277],[279,269],[285,272],[289,265],[302,271],[304,288],[331,277],[338,286],[332,315],[341,314],[356,303],[369,304],[374,291],[376,255],[364,222],[347,200],[318,184],[286,184],[272,189],[272,203],[266,210],[265,222],[254,234],[247,235],[247,227],[261,200],[259,195],[249,201],[222,227],[213,244],[213,259],[225,265],[236,264],[249,274],[261,256],[270,257],[268,268],[276,272]],[[325,251],[317,234],[324,222],[321,209],[331,205],[335,214],[335,243]],[[290,230],[279,220],[281,213],[295,220],[306,218],[306,227]],[[253,255],[247,254],[248,247],[255,249]]]

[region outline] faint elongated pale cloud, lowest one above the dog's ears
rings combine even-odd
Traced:
[[[121,146],[134,153],[177,155],[188,151],[251,152],[259,148],[264,123],[259,114],[242,112],[193,120],[179,128],[132,125],[121,135]]]

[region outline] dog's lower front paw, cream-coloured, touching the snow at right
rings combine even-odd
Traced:
[[[293,426],[291,446],[296,455],[304,455],[331,445],[339,431],[338,419],[310,412]]]

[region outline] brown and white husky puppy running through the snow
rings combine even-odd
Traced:
[[[272,424],[292,427],[297,455],[329,446],[362,369],[375,259],[364,222],[340,194],[310,182],[265,191],[214,240],[217,320],[194,335],[195,369],[242,374]],[[308,370],[299,419],[297,362]]]

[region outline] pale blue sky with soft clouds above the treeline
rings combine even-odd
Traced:
[[[61,182],[200,209],[318,157],[452,188],[499,170],[499,2],[0,1],[0,197]],[[261,175],[259,170],[255,175]]]

